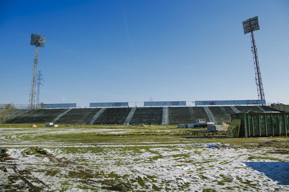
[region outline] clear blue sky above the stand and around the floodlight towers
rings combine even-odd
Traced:
[[[0,1],[0,103],[28,104],[35,47],[40,102],[258,99],[289,104],[289,1]]]

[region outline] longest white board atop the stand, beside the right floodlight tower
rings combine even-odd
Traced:
[[[257,105],[266,104],[265,100],[224,100],[224,101],[195,101],[196,105]]]

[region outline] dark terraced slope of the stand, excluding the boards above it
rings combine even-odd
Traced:
[[[199,118],[217,123],[229,123],[231,121],[230,114],[248,110],[257,112],[279,111],[268,106],[252,105],[36,109],[19,115],[8,122],[45,123],[56,120],[58,124],[180,124],[194,123]]]

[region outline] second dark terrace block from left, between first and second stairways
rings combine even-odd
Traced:
[[[100,108],[71,109],[61,116],[56,123],[59,124],[87,124]]]

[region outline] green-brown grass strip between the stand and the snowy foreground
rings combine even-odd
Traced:
[[[43,129],[47,132],[55,132],[53,134],[43,134],[38,135],[36,139],[39,140],[58,140],[61,142],[81,142],[90,143],[93,141],[106,142],[106,141],[125,141],[129,140],[131,142],[160,142],[160,141],[174,141],[174,142],[192,142],[192,143],[225,143],[235,145],[239,148],[251,148],[251,147],[274,147],[279,149],[288,149],[289,145],[280,145],[277,142],[289,142],[289,137],[270,137],[260,140],[259,138],[226,138],[218,136],[190,136],[191,132],[197,131],[198,129],[177,129],[176,125],[153,125],[149,127],[142,127],[139,125],[82,125],[82,126],[67,126],[66,124],[59,124],[59,127],[45,127],[45,124],[37,124],[37,128],[30,127],[30,124],[0,124],[0,127],[11,128],[15,127],[21,130],[27,131],[28,133],[33,132],[32,130]],[[109,131],[106,131],[109,129]],[[2,131],[5,132],[6,129]],[[61,131],[69,131],[71,133],[62,133]],[[80,132],[75,133],[73,130],[79,130]],[[94,131],[95,130],[95,131]],[[113,131],[115,130],[115,132]],[[6,130],[10,132],[11,130]],[[83,132],[82,132],[83,131]],[[112,134],[110,132],[113,132]],[[116,134],[119,132],[120,134]],[[33,134],[16,134],[23,139],[32,140],[35,139]],[[188,135],[189,137],[185,137]],[[172,138],[173,137],[173,138]],[[271,143],[269,145],[263,146],[266,141],[276,141],[276,143]],[[196,152],[199,153],[199,152]],[[274,153],[274,152],[273,152]],[[282,153],[282,152],[280,152]]]

